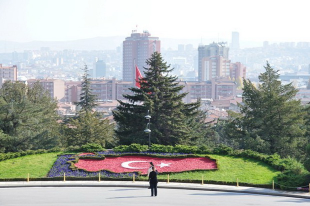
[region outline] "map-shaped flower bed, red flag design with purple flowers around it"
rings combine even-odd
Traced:
[[[103,153],[102,154],[107,154]],[[87,158],[91,153],[81,153],[78,155],[60,155],[50,169],[48,176],[61,176],[63,172],[67,176],[96,176],[98,173],[112,178],[129,177],[132,173],[146,174],[149,162],[153,162],[159,173],[162,172],[182,172],[190,170],[210,170],[217,169],[216,160],[208,157],[180,157],[160,154],[161,157],[149,156],[144,153],[137,155],[122,154],[123,156],[105,156],[104,159]],[[83,158],[79,158],[83,156]],[[74,163],[77,169],[71,169],[68,160],[77,157]]]

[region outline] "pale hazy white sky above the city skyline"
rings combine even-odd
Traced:
[[[308,0],[0,0],[0,40],[152,36],[310,41]]]

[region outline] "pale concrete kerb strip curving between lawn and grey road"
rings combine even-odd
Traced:
[[[2,181],[0,188],[7,187],[63,187],[63,186],[85,186],[85,187],[148,187],[146,181]],[[265,194],[275,196],[287,196],[310,199],[310,193],[304,191],[286,191],[279,189],[267,189],[259,187],[231,186],[217,184],[198,184],[198,183],[177,183],[177,182],[158,182],[158,188],[171,189],[193,189],[193,190],[210,190],[226,191],[250,194]]]

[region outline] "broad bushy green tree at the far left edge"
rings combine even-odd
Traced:
[[[58,145],[57,101],[37,81],[31,86],[6,81],[0,89],[0,150]]]

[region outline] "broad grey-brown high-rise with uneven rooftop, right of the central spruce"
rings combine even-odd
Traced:
[[[226,42],[210,43],[198,46],[198,81],[214,77],[229,76],[229,48]]]

